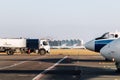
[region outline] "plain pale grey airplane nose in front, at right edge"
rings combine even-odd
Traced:
[[[120,72],[120,38],[105,45],[100,53],[103,57],[115,61],[117,71]]]

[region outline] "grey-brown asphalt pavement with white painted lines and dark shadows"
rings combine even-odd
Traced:
[[[0,54],[0,80],[120,80],[100,55]]]

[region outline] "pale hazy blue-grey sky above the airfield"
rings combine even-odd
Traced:
[[[0,0],[1,38],[82,39],[120,31],[120,0]]]

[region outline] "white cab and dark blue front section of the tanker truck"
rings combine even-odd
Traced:
[[[29,52],[35,52],[41,55],[50,53],[50,45],[47,40],[27,39],[27,49]]]

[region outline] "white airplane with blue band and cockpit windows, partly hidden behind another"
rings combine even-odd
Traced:
[[[118,39],[120,32],[107,32],[85,44],[85,48],[91,51],[100,52],[100,49],[111,41]]]

